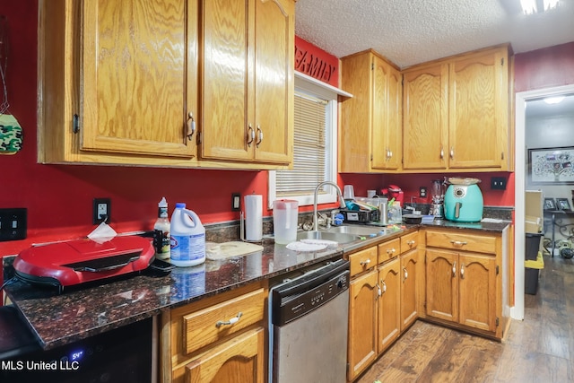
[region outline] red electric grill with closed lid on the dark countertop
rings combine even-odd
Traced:
[[[98,243],[86,238],[27,248],[13,267],[18,279],[62,292],[68,286],[142,271],[154,258],[150,239],[126,236]]]

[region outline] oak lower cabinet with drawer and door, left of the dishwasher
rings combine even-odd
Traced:
[[[254,283],[163,313],[160,381],[263,383],[266,298]]]

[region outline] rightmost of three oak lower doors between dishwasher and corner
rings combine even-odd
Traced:
[[[401,331],[419,317],[419,281],[423,281],[424,268],[419,251],[411,250],[401,256]]]

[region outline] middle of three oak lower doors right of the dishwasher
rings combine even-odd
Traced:
[[[378,268],[378,353],[401,334],[401,270],[398,258]]]

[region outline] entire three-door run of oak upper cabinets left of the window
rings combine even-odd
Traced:
[[[293,0],[39,0],[39,161],[287,169]]]

